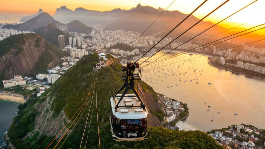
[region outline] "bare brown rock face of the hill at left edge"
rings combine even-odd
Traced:
[[[61,61],[60,56],[55,54],[55,51],[59,49],[52,46],[41,35],[24,34],[22,36],[24,36],[23,43],[17,43],[14,48],[9,49],[5,55],[0,57],[0,74],[3,75],[3,72],[5,72],[6,78],[11,78],[14,75],[29,74],[45,51],[52,55],[51,61],[46,61],[49,67],[59,64]],[[9,38],[15,37],[16,35]],[[5,42],[5,40],[1,42]]]

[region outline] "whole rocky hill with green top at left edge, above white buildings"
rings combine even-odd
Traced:
[[[59,65],[63,56],[67,53],[39,34],[12,35],[0,41],[0,81],[14,75],[46,73],[49,67]]]

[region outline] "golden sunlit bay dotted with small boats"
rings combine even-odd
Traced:
[[[265,81],[212,67],[208,57],[198,56],[185,54],[144,67],[142,80],[154,91],[187,103],[190,114],[185,123],[194,128],[208,131],[244,123],[264,129]]]

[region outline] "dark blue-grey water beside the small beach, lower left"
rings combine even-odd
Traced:
[[[8,130],[13,119],[15,118],[15,112],[19,104],[20,103],[15,101],[0,99],[0,145],[5,142],[4,133]]]

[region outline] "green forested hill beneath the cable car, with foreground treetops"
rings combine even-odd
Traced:
[[[84,56],[42,96],[33,95],[26,103],[21,104],[18,116],[14,118],[7,133],[9,142],[16,148],[46,148],[49,142],[74,116],[82,103],[88,99],[88,102],[85,102],[85,105],[88,105],[84,110],[85,114],[78,120],[78,123],[75,123],[77,125],[74,129],[73,127],[70,128],[72,132],[63,145],[62,142],[69,133],[59,143],[59,146],[62,145],[63,148],[79,148],[91,104],[90,98],[86,97],[89,97],[87,96],[89,93],[91,93],[90,96],[93,96],[93,84],[96,75],[101,148],[222,148],[205,132],[198,130],[185,132],[162,127],[149,127],[149,139],[145,141],[113,142],[112,139],[114,138],[111,136],[109,123],[109,116],[111,115],[110,97],[118,91],[124,82],[121,80],[121,64],[110,55],[107,57],[109,58],[107,63],[110,65],[101,67],[95,72],[93,67],[98,62],[98,55]],[[145,94],[148,92],[155,93],[149,85],[144,84],[144,86]],[[157,99],[152,100],[152,102],[158,103]],[[87,148],[99,148],[96,103],[93,105]],[[146,106],[148,107],[148,105]],[[152,109],[152,107],[148,108]],[[73,119],[75,118],[76,116],[73,117]],[[72,122],[73,119],[70,121]],[[88,127],[87,125],[87,129]],[[69,128],[69,125],[66,128]],[[85,136],[88,134],[87,129]],[[52,143],[50,148],[55,147],[57,141],[58,139]],[[86,140],[83,139],[82,148],[85,147],[85,144]]]

